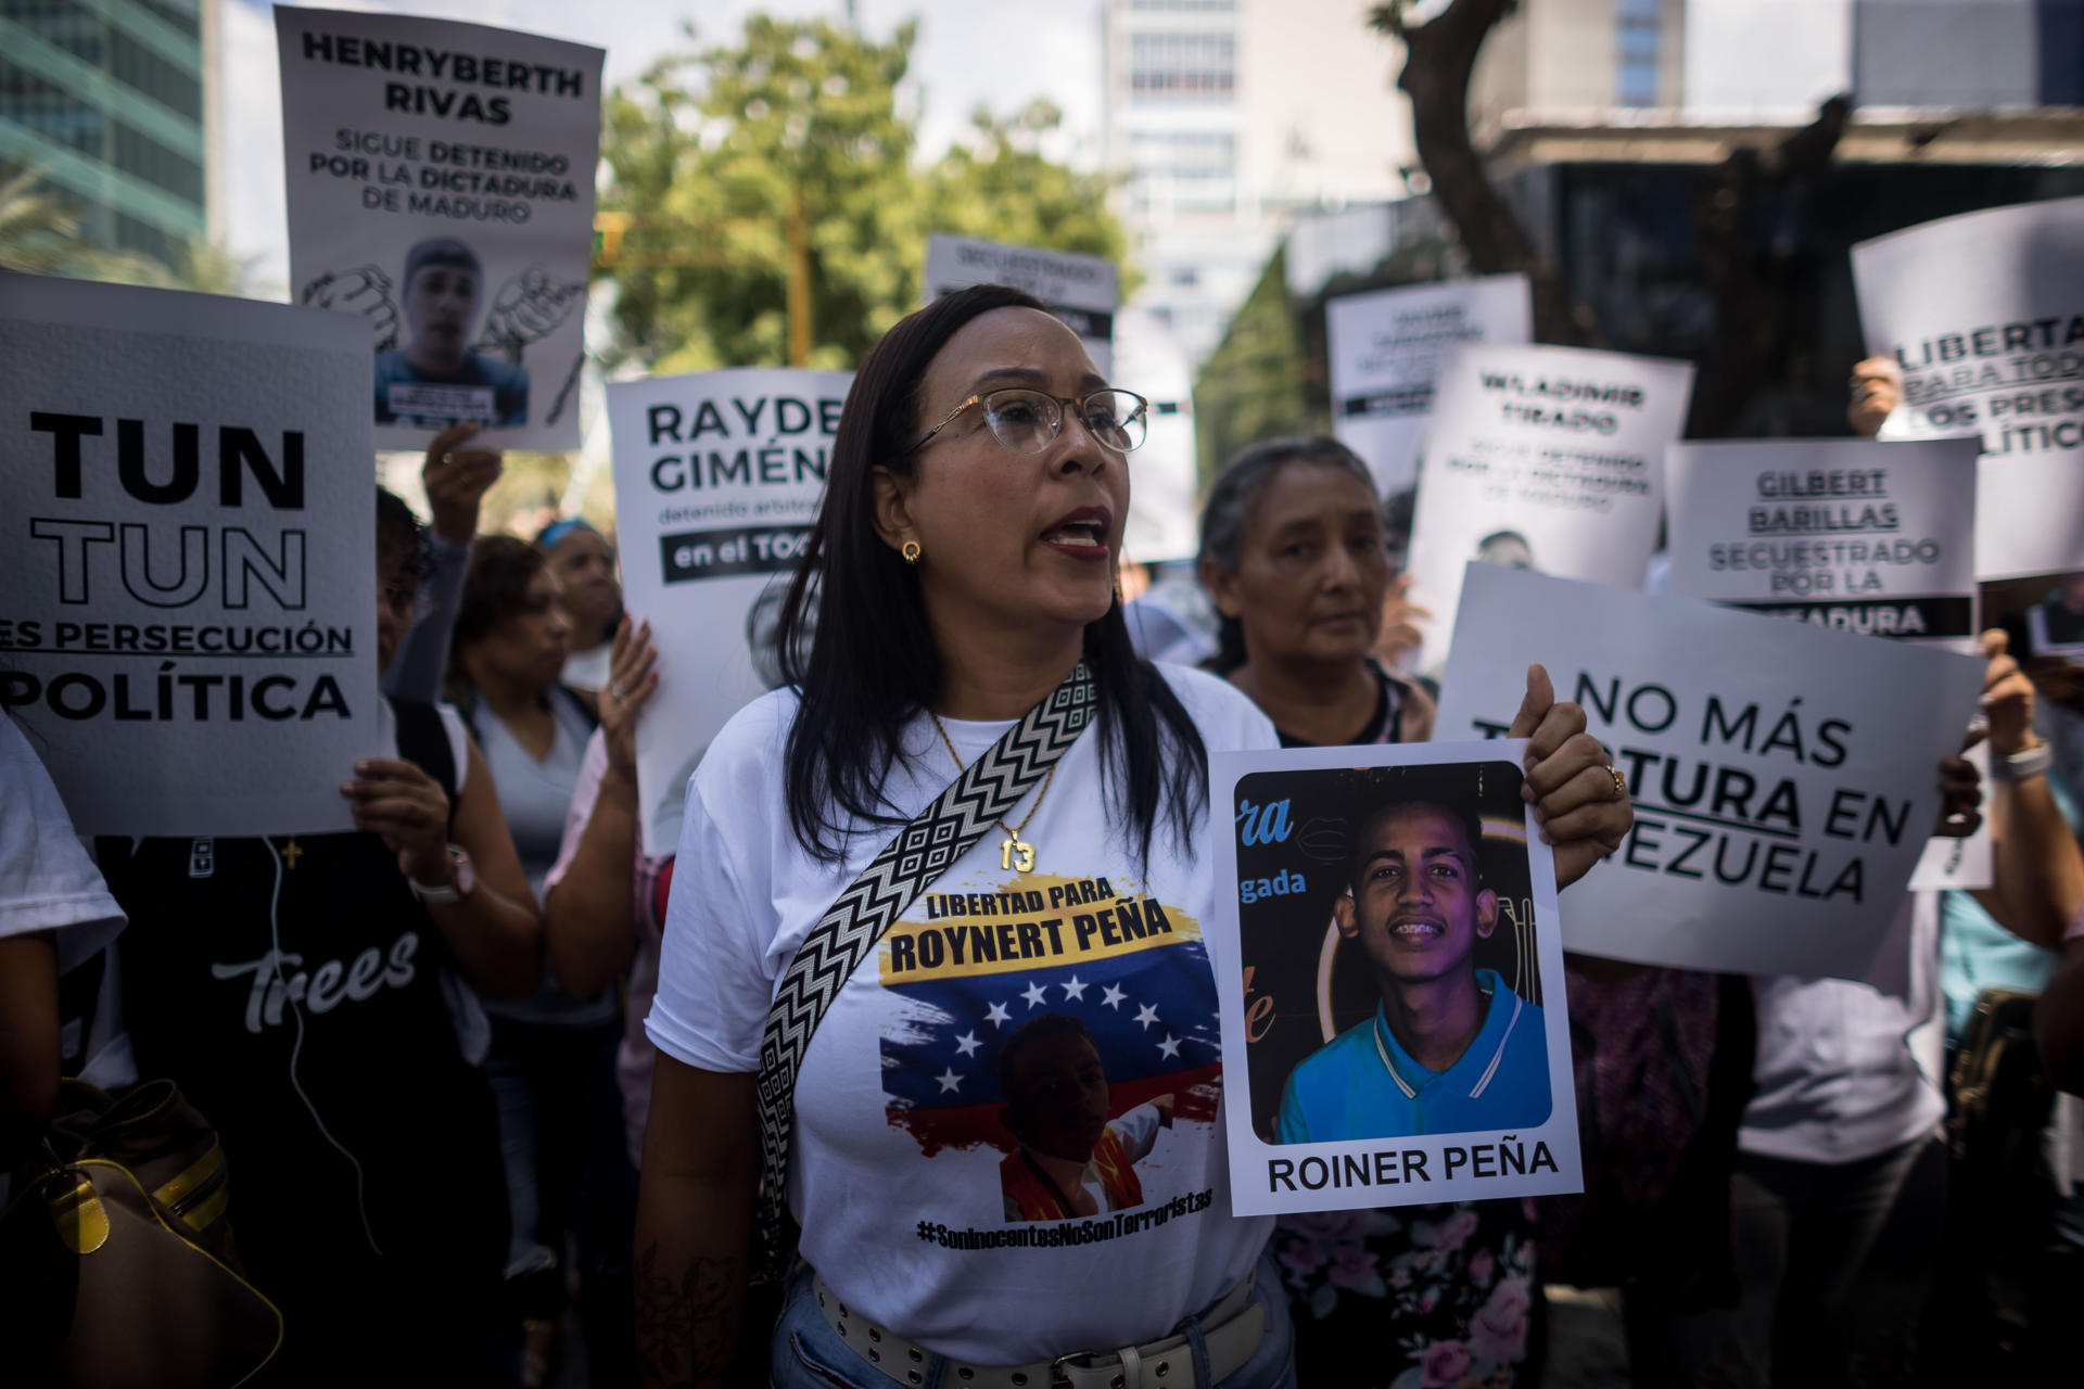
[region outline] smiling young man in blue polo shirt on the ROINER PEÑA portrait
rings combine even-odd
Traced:
[[[1355,835],[1338,933],[1359,941],[1382,1006],[1309,1056],[1282,1089],[1282,1143],[1400,1139],[1546,1122],[1542,1010],[1475,968],[1498,925],[1475,818],[1390,802]]]

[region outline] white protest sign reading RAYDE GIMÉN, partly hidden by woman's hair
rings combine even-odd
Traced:
[[[659,643],[638,723],[646,854],[671,854],[688,775],[746,702],[782,683],[775,625],[825,496],[852,373],[704,371],[609,383],[623,606]]]

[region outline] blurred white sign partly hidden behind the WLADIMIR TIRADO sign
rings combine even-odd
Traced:
[[[1348,294],[1323,306],[1332,431],[1367,460],[1384,494],[1417,477],[1440,358],[1457,346],[1534,335],[1525,275]]]

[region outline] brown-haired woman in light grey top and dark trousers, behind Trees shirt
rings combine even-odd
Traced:
[[[511,535],[471,550],[456,610],[448,698],[486,750],[500,810],[540,900],[579,789],[594,710],[563,683],[571,643],[550,558]],[[623,1154],[615,989],[565,993],[544,970],[527,997],[492,1000],[486,1072],[500,1106],[513,1243],[506,1287],[515,1383],[548,1379],[565,1308],[565,1247],[579,1260],[579,1310],[596,1383],[629,1377],[623,1308],[636,1172]]]

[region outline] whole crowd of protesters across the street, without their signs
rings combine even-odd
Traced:
[[[2084,673],[2024,631],[1984,635],[1990,781],[1932,768],[1942,833],[1990,820],[1996,883],[1907,895],[1888,977],[1569,958],[1582,1197],[1215,1212],[1075,1277],[971,1266],[909,1241],[915,1195],[827,1060],[794,1095],[807,1262],[754,1320],[754,1077],[790,954],[1067,673],[1096,725],[1017,812],[1167,902],[1209,906],[1207,752],[1432,737],[1436,691],[1396,675],[1425,623],[1411,498],[1332,439],[1257,444],[1209,489],[1192,577],[1125,608],[1140,433],[1111,387],[1000,287],[869,352],[784,687],[711,743],[677,856],[644,854],[636,791],[638,723],[675,718],[667,637],[621,610],[588,523],[479,531],[500,458],[471,427],[427,448],[431,525],[375,498],[388,756],[340,768],[356,833],[88,845],[0,721],[4,1166],[65,1106],[171,1079],[281,1312],[271,1385],[542,1385],[561,1362],[596,1389],[1023,1385],[992,1366],[1090,1358],[1034,1383],[1505,1389],[1542,1383],[1553,1283],[1623,1291],[1642,1389],[2074,1381],[2084,1116],[2057,1091],[2084,1089]],[[1861,364],[1853,427],[1894,389]],[[1111,564],[1065,558],[1094,544]],[[1544,673],[1515,700],[1567,887],[1628,802]],[[854,1045],[875,1022],[846,1006]],[[1196,1160],[1219,1187],[1217,1133]],[[27,1354],[0,1345],[0,1379]]]

